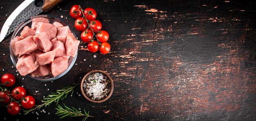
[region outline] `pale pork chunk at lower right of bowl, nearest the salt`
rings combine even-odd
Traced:
[[[52,75],[56,77],[61,73],[63,73],[67,69],[67,66],[68,66],[67,62],[68,62],[68,59],[66,57],[58,57],[54,59],[51,65]]]

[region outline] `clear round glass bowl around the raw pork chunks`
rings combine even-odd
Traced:
[[[39,17],[47,18],[51,24],[53,22],[60,22],[61,24],[63,24],[63,26],[69,26],[63,19],[58,18],[54,15],[36,15],[36,16],[33,16],[33,17],[25,20],[24,22],[22,22],[17,27],[17,29],[13,32],[13,35],[11,36],[11,40],[14,39],[14,37],[16,37],[17,35],[20,36],[20,32],[23,30],[24,26],[30,26],[31,27],[32,19],[39,18]],[[76,34],[72,30],[72,28],[70,26],[69,26],[69,28],[70,28],[70,31],[76,37]],[[78,49],[77,49],[77,51],[78,51]],[[52,75],[52,73],[50,73],[49,75],[40,76],[40,77],[31,77],[30,74],[27,74],[26,77],[29,77],[30,79],[34,79],[36,81],[53,81],[53,80],[56,80],[56,79],[62,77],[63,75],[65,75],[72,68],[72,66],[74,65],[74,63],[76,61],[77,55],[78,55],[78,52],[76,53],[75,57],[70,57],[69,58],[67,70],[65,70],[63,73],[61,73],[60,75],[58,75],[56,77],[54,77]],[[13,62],[13,65],[16,66],[16,63],[18,62],[18,56],[14,55],[14,53],[12,51],[12,48],[11,48],[11,44],[10,44],[10,56],[11,56],[11,61]]]

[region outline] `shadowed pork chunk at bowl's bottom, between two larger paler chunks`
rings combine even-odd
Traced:
[[[48,65],[38,66],[30,75],[31,77],[39,77],[49,75],[51,68]]]

